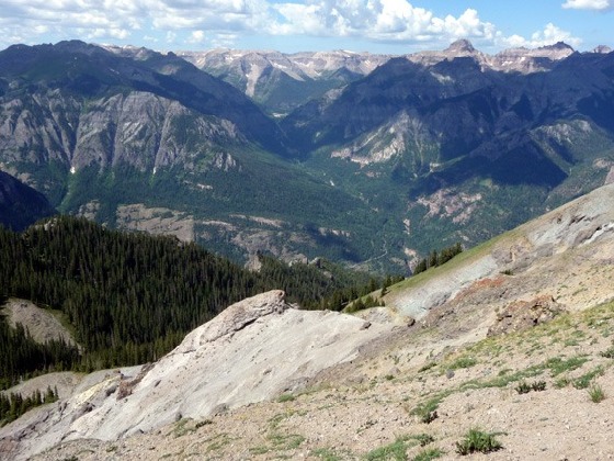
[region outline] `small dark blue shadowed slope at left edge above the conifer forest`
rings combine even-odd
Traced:
[[[45,196],[11,175],[0,171],[0,224],[22,231],[56,211]]]

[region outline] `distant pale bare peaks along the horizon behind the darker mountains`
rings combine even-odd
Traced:
[[[600,47],[595,53],[609,53]],[[420,52],[406,55],[422,66],[458,57],[476,59],[484,69],[532,74],[549,70],[573,48],[557,43],[541,48],[510,48],[496,55],[484,54],[466,40],[453,43],[442,52]],[[243,91],[269,112],[286,114],[310,99],[342,88],[366,77],[394,57],[369,53],[314,52],[284,54],[280,52],[211,49],[180,52],[179,56]]]

